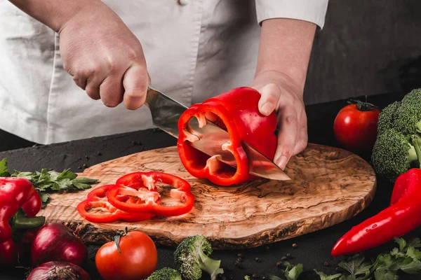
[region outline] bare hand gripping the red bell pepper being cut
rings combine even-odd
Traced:
[[[268,116],[275,111],[278,116],[278,147],[274,163],[284,169],[290,157],[307,146],[307,116],[302,87],[277,71],[258,73],[249,86],[262,94],[258,105],[260,113]]]

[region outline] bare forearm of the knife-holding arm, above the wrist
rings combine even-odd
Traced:
[[[65,23],[80,10],[98,6],[100,0],[9,0],[32,18],[54,31],[60,31]],[[93,10],[95,12],[95,10]]]

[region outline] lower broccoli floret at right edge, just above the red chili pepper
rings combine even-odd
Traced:
[[[420,167],[421,152],[415,135],[408,139],[394,129],[377,135],[371,160],[378,175],[389,181],[406,172],[410,167]]]

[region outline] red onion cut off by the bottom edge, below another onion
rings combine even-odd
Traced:
[[[27,280],[91,280],[88,272],[70,262],[46,262],[36,267]]]

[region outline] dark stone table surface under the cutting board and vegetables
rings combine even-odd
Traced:
[[[403,94],[380,94],[370,97],[368,102],[383,108],[394,100],[401,99],[402,96]],[[345,100],[340,100],[338,102],[307,106],[309,142],[338,146],[333,135],[333,120],[336,113],[345,104]],[[7,143],[4,135],[1,138],[1,143]],[[9,143],[12,145],[17,142],[9,141]],[[32,147],[32,144],[29,142],[22,141],[22,146],[29,147],[1,152],[0,159],[7,158],[10,167],[20,171],[34,172],[41,168],[61,171],[62,169],[70,168],[74,172],[81,172],[79,168],[84,163],[91,166],[140,151],[173,146],[175,143],[176,141],[173,137],[159,130],[117,134],[48,146]],[[98,155],[98,152],[101,155]],[[88,160],[85,158],[86,155],[88,155]],[[366,160],[370,158],[370,155],[361,156],[366,158]],[[281,276],[281,269],[276,267],[276,262],[281,260],[287,253],[290,253],[293,257],[289,260],[291,263],[297,264],[301,262],[305,267],[305,272],[303,272],[299,280],[319,279],[319,276],[313,272],[313,269],[334,274],[338,262],[343,259],[342,257],[332,258],[330,256],[330,250],[335,242],[352,226],[361,223],[364,219],[377,214],[387,207],[391,193],[392,184],[380,180],[377,184],[377,193],[373,202],[361,214],[350,218],[348,221],[301,237],[269,244],[269,246],[247,250],[215,251],[212,257],[222,260],[222,267],[225,269],[227,279],[241,280],[248,273],[258,274],[260,276],[259,279],[270,274]],[[410,232],[405,238],[417,237],[420,236],[420,233],[421,230],[418,228]],[[297,248],[292,247],[294,243],[298,245]],[[366,258],[375,258],[377,254],[389,251],[395,245],[391,241],[375,249],[368,250],[365,252]],[[98,247],[90,246],[91,260],[85,267],[93,279],[101,279],[92,261],[97,249]],[[159,265],[157,268],[173,265],[174,248],[158,246],[158,250]],[[234,265],[239,253],[243,255],[243,269]],[[255,258],[259,258],[261,262],[257,262]],[[325,265],[325,262],[328,262],[328,265]],[[6,271],[0,272],[0,279],[25,279],[23,272],[25,272],[25,269],[22,268],[6,269]],[[232,278],[229,278],[230,275]],[[209,277],[203,276],[203,279],[209,279]],[[420,279],[420,275],[408,276],[401,274],[400,279]]]

